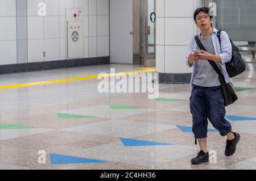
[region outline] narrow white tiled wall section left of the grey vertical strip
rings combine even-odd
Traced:
[[[16,64],[16,0],[0,2],[0,65]]]

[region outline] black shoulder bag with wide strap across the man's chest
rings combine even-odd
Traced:
[[[201,50],[207,51],[201,41],[199,40],[199,36],[195,36],[196,39],[196,44]],[[224,94],[224,100],[225,100],[225,106],[229,106],[230,104],[233,104],[238,98],[236,95],[236,92],[234,91],[234,86],[233,84],[226,83],[224,75],[222,75],[220,69],[216,65],[216,63],[212,60],[208,60],[209,64],[212,66],[212,68],[218,73],[218,79],[220,79],[222,91]]]

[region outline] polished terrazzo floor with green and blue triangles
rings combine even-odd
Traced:
[[[140,70],[135,65],[0,75],[0,87]],[[147,93],[99,93],[97,79],[0,88],[0,169],[256,169],[256,72],[232,79],[238,100],[226,108],[237,152],[225,157],[225,137],[209,124],[217,163],[191,165],[199,151],[191,132],[189,85],[159,85]],[[39,150],[46,153],[40,162]]]

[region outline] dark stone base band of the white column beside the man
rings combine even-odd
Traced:
[[[191,73],[159,73],[159,83],[186,84],[191,81]]]

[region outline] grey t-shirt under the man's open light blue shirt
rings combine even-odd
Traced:
[[[215,54],[212,35],[206,39],[200,38],[201,43],[204,45],[204,48],[210,54]],[[198,50],[199,47],[197,47]],[[217,66],[220,67],[220,64],[217,63]],[[194,84],[201,87],[214,87],[220,86],[220,80],[218,79],[217,72],[212,68],[207,60],[199,60],[196,62],[196,77],[194,78]]]

